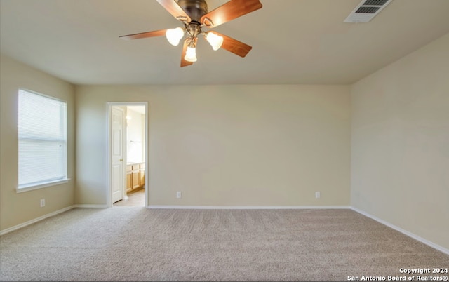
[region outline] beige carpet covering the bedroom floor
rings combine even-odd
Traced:
[[[1,281],[388,281],[449,267],[353,210],[76,208],[0,239]]]

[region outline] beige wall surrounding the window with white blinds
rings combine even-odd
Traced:
[[[67,101],[67,184],[17,193],[18,184],[18,89]],[[74,86],[1,55],[0,63],[0,230],[34,220],[74,204]],[[46,206],[40,207],[40,199]]]

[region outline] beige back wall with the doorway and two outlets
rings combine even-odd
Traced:
[[[149,103],[150,205],[349,206],[349,86],[77,87],[76,203],[107,204],[107,102]]]

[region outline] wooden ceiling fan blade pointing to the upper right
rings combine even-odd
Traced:
[[[201,23],[206,27],[217,27],[242,15],[262,8],[259,0],[231,0],[201,17]]]

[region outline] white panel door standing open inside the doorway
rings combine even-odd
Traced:
[[[111,189],[112,203],[123,199],[123,109],[112,107],[111,113]]]

